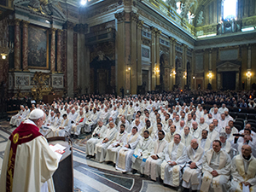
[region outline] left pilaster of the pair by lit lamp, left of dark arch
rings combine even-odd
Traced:
[[[155,29],[154,27],[151,27],[151,90],[155,89],[155,79],[156,79],[156,62],[155,62],[155,32],[157,31],[157,29]]]

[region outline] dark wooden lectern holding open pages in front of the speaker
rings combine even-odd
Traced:
[[[61,144],[65,149],[62,154],[59,167],[53,175],[55,183],[55,192],[73,191],[73,144],[67,137],[49,137],[48,143],[55,145]]]

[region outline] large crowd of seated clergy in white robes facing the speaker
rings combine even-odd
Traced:
[[[47,114],[41,130],[46,137],[91,133],[86,158],[120,172],[183,191],[256,191],[255,132],[250,123],[237,130],[224,104],[207,111],[192,102],[170,106],[160,98],[126,98],[37,108]],[[26,119],[26,110],[21,106],[10,124]]]

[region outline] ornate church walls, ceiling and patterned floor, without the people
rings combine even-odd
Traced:
[[[255,0],[0,0],[0,165],[11,97],[256,90],[255,27]],[[84,151],[74,191],[177,191]]]

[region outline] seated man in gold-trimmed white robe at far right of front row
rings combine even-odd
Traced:
[[[256,191],[256,160],[251,146],[241,147],[241,154],[232,160],[230,192]]]

